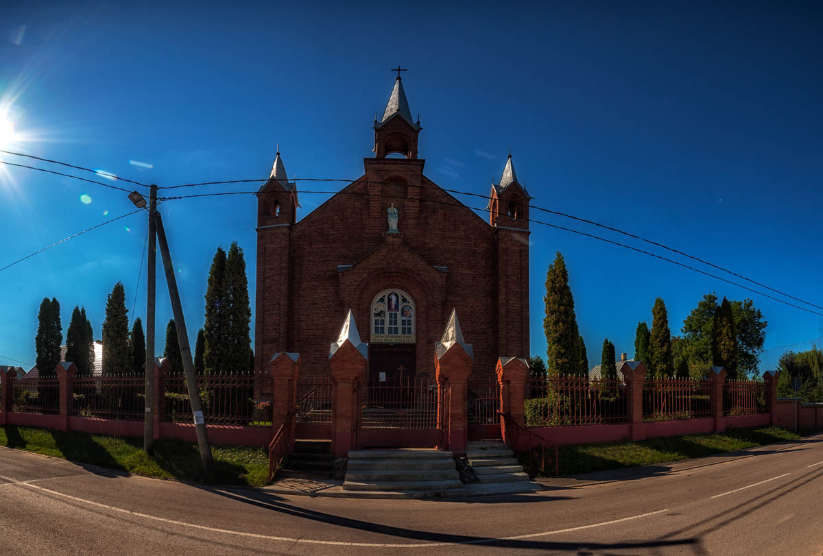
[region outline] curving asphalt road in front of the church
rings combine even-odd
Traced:
[[[463,500],[309,498],[0,448],[0,553],[823,554],[823,434],[634,472]]]

